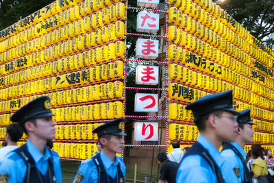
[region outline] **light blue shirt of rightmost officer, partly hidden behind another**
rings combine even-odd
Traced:
[[[242,158],[246,158],[247,154],[245,153],[244,149],[240,147],[237,143],[231,143],[242,155]],[[234,153],[232,149],[225,149],[221,151],[221,155],[224,158],[224,163],[222,166],[222,174],[223,178],[225,178],[225,182],[243,182],[245,180],[244,176],[244,167],[242,166],[242,161]],[[240,169],[240,178],[237,177],[235,169]]]

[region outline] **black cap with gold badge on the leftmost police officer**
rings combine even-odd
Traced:
[[[54,114],[51,112],[51,99],[47,96],[42,96],[17,110],[10,118],[10,121],[23,125],[29,119],[52,116]]]

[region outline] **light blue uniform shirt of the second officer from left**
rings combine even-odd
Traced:
[[[117,172],[117,165],[120,164],[120,169],[125,177],[125,164],[123,162],[123,159],[119,156],[116,156],[115,162],[112,162],[108,156],[106,156],[103,151],[100,153],[100,158],[103,162],[103,167],[105,168],[106,173],[110,175],[110,177],[115,178],[116,172]],[[80,173],[80,174],[79,174]],[[81,183],[91,183],[91,182],[98,182],[98,171],[97,167],[95,165],[95,162],[93,162],[92,158],[84,160],[82,164],[80,165],[77,175],[81,175],[82,182]],[[73,183],[76,182],[76,178],[73,180]]]

